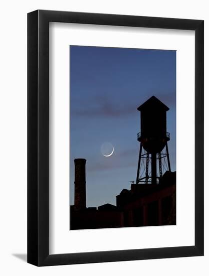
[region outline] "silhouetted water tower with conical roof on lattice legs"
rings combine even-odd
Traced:
[[[136,184],[157,184],[162,171],[170,171],[166,130],[166,112],[169,108],[152,96],[137,110],[141,112],[141,132]],[[150,166],[151,165],[151,166]]]

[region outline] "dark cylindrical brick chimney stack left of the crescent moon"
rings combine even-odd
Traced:
[[[86,208],[86,159],[79,158],[75,163],[75,202],[76,211]]]

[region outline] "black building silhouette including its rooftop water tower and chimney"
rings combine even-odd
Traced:
[[[136,183],[130,185],[130,190],[123,189],[116,196],[116,206],[107,203],[86,207],[86,160],[75,159],[71,230],[176,224],[176,173],[170,170],[167,145],[170,138],[166,130],[169,108],[152,96],[138,110],[141,111],[141,132],[137,135],[140,150]],[[143,158],[146,167],[140,174]],[[162,159],[168,168],[164,173]]]

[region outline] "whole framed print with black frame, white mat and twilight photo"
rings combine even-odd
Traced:
[[[28,14],[28,262],[203,255],[203,21]]]

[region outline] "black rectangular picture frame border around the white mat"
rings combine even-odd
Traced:
[[[195,31],[195,245],[49,254],[49,22]],[[28,262],[37,266],[203,255],[203,21],[38,10],[28,14]]]

